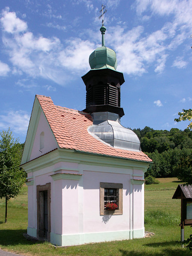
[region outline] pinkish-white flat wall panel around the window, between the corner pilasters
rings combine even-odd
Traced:
[[[97,167],[98,169],[98,167]],[[105,168],[102,168],[105,171]],[[129,230],[130,175],[84,171],[84,232]],[[100,182],[123,184],[123,214],[100,215]],[[117,224],[118,223],[118,224]]]

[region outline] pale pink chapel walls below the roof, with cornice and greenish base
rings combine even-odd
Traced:
[[[51,161],[51,157],[49,159]],[[39,158],[38,161],[41,163]],[[80,157],[75,161],[60,160],[28,172],[29,181],[34,181],[28,187],[29,235],[34,235],[37,229],[36,186],[51,183],[52,243],[74,245],[144,236],[144,184],[131,182],[133,179],[142,180],[143,170],[131,166],[113,167],[111,162],[103,166],[101,163],[90,163]],[[61,173],[81,176],[79,180],[65,179],[64,176],[54,180],[51,176]],[[122,215],[100,215],[100,182],[122,183]]]

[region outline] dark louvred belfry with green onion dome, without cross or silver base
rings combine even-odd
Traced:
[[[116,71],[116,53],[105,46],[105,26],[100,28],[102,47],[91,53],[89,64],[91,70],[82,76],[86,86],[85,112],[108,111],[119,117],[124,115],[120,107],[120,86],[124,83],[123,73]]]

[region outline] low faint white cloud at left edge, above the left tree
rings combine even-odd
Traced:
[[[26,134],[30,116],[25,111],[8,111],[0,115],[0,128],[10,129],[16,134]]]

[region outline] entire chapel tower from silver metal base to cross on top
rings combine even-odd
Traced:
[[[105,6],[102,5],[102,15]],[[82,76],[86,86],[86,108],[84,112],[93,117],[93,125],[87,131],[97,140],[114,148],[140,151],[137,135],[120,124],[124,111],[120,106],[120,87],[125,82],[123,73],[116,71],[116,53],[105,46],[103,24],[102,47],[96,48],[89,57],[90,71]]]

